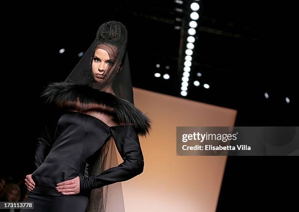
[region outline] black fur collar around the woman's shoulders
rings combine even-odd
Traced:
[[[111,93],[94,89],[88,85],[75,85],[65,82],[51,83],[42,93],[45,102],[61,104],[76,102],[84,105],[100,104],[112,107],[120,123],[133,124],[138,134],[146,135],[151,128],[151,120],[130,102]]]

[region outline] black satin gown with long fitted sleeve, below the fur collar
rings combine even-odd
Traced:
[[[124,162],[99,175],[86,177],[86,162],[103,147],[111,136]],[[43,142],[45,139],[39,140],[39,143]],[[43,145],[40,144],[40,147]],[[37,149],[36,161],[43,160],[44,150],[44,148]],[[45,201],[45,198],[52,197],[62,198],[61,201],[66,201],[64,204],[71,205],[73,199],[65,198],[55,190],[55,187],[57,183],[79,176],[80,193],[72,196],[77,196],[76,201],[82,201],[84,205],[85,197],[88,198],[92,189],[128,180],[140,174],[143,166],[144,160],[139,138],[132,125],[109,127],[91,115],[65,111],[57,123],[54,141],[48,155],[32,173],[36,186],[30,192],[29,197],[35,198],[35,201]],[[41,196],[40,200],[38,196]],[[41,202],[37,203],[43,205],[40,204]],[[56,208],[53,211],[59,210]]]

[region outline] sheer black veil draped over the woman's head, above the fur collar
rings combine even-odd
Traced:
[[[79,63],[68,75],[65,82],[89,85],[100,89],[112,85],[113,91],[119,98],[134,104],[131,74],[127,53],[128,32],[126,27],[117,21],[108,21],[102,24]],[[108,77],[104,83],[96,82],[92,78],[91,65],[96,47],[104,48],[114,63],[107,66]],[[107,47],[105,47],[105,45]],[[109,51],[111,49],[112,51]]]

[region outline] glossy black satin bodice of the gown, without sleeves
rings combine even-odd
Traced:
[[[101,148],[109,136],[109,129],[99,119],[79,112],[64,113],[58,121],[50,152],[32,173],[36,187],[45,187],[46,193],[60,195],[56,193],[56,184],[84,175],[87,158]]]

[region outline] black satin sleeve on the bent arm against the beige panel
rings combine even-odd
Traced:
[[[106,185],[126,181],[143,172],[144,158],[138,134],[131,125],[111,127],[111,133],[124,162],[89,177],[80,176],[80,192],[101,188]]]

